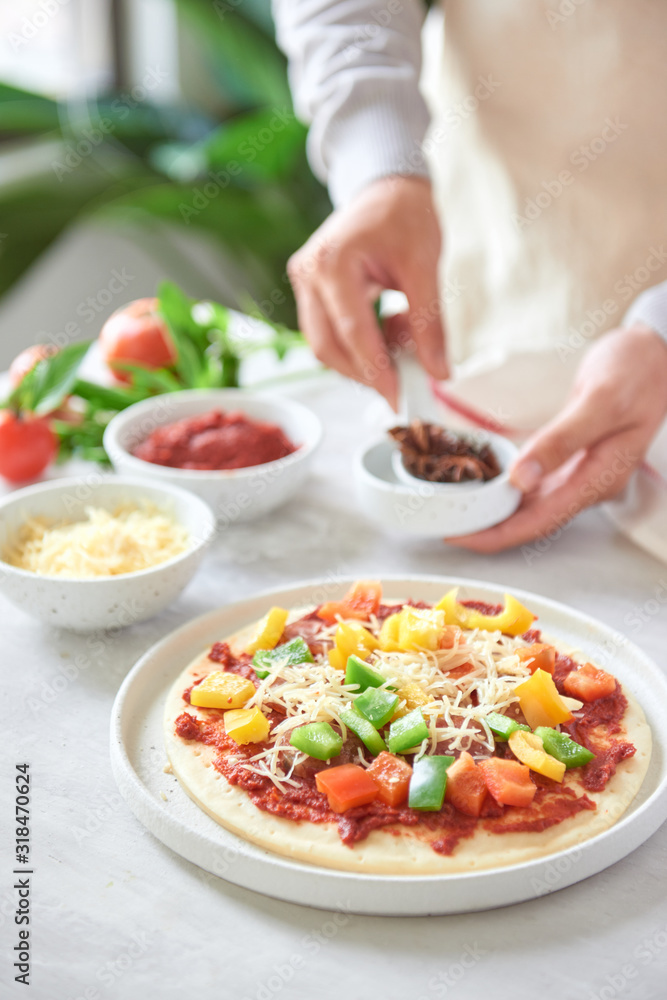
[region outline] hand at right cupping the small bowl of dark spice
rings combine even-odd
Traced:
[[[604,334],[586,354],[565,409],[526,442],[512,468],[524,493],[516,514],[448,541],[498,552],[562,528],[620,493],[666,415],[667,344],[640,324]]]

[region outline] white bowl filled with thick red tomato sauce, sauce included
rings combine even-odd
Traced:
[[[123,410],[109,423],[104,447],[116,472],[192,490],[224,529],[294,496],[321,438],[319,419],[294,400],[244,389],[188,389]],[[279,457],[267,461],[273,454]],[[218,460],[233,467],[204,467]]]

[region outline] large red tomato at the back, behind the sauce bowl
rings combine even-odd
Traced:
[[[132,376],[118,368],[116,362],[165,368],[176,360],[176,350],[157,304],[157,299],[136,299],[113,313],[102,327],[102,357],[121,382],[131,382]]]

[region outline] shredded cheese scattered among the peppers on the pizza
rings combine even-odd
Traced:
[[[379,631],[374,617],[361,624],[374,634]],[[315,641],[333,644],[337,626],[338,622],[330,626],[322,623]],[[526,645],[521,638],[475,629],[463,631],[462,641],[452,649],[400,653],[376,650],[367,663],[385,678],[382,686],[396,688],[399,697],[410,684],[418,685],[428,695],[428,703],[419,707],[429,738],[415,748],[417,757],[434,753],[438,743],[447,743],[448,752],[467,750],[473,757],[482,757],[494,747],[493,734],[484,718],[490,712],[506,714],[511,705],[518,703],[513,689],[530,674],[516,655],[516,650]],[[464,664],[470,665],[466,673],[450,676]],[[341,712],[352,706],[359,693],[356,685],[345,683],[344,671],[331,666],[326,653],[315,656],[313,663],[274,667],[246,707],[278,711],[284,718],[272,727],[271,745],[241,766],[270,778],[280,791],[286,785],[297,785],[293,775],[308,755],[290,744],[292,730],[310,722],[335,723],[345,739],[347,728]],[[408,710],[406,699],[401,697],[397,712]],[[371,761],[360,748],[356,762],[368,766]]]

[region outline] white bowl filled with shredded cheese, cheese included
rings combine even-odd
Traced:
[[[60,479],[0,501],[0,591],[77,632],[151,618],[195,573],[215,533],[188,490],[129,477]]]

